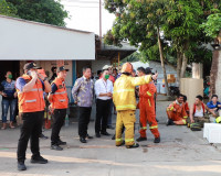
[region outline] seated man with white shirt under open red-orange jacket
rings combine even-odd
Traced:
[[[197,96],[190,109],[190,119],[188,119],[188,122],[200,123],[201,128],[203,128],[204,122],[210,122],[209,116],[206,116],[206,110],[215,116],[215,113],[202,102],[202,96]]]

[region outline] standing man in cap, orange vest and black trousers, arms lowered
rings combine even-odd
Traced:
[[[53,127],[51,134],[51,150],[62,151],[60,145],[66,145],[66,142],[61,141],[60,131],[64,123],[66,109],[69,107],[69,97],[66,92],[65,78],[66,72],[64,66],[57,68],[57,77],[52,82],[52,91],[49,94],[49,101],[51,102]]]

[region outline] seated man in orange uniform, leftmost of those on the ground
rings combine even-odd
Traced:
[[[168,122],[167,125],[171,124],[186,124],[187,112],[183,106],[183,95],[178,95],[176,101],[173,101],[167,108]]]

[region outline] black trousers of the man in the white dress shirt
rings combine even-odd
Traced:
[[[95,121],[95,133],[106,132],[107,119],[109,116],[112,100],[96,101],[96,121]]]

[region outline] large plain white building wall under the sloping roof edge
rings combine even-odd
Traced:
[[[0,59],[95,59],[95,34],[0,15]]]

